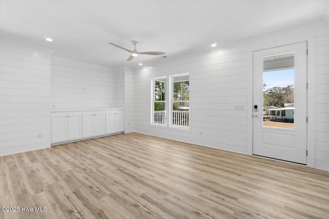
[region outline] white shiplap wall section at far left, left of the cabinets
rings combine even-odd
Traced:
[[[51,52],[1,38],[0,155],[50,147]]]

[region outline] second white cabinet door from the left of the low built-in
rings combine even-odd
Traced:
[[[67,140],[82,137],[82,114],[71,113],[67,117]]]

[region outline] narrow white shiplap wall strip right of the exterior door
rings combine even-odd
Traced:
[[[329,31],[316,36],[315,166],[329,170]]]

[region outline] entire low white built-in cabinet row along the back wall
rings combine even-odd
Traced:
[[[51,144],[124,132],[124,109],[51,112]]]

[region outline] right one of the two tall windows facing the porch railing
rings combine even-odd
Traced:
[[[189,127],[189,74],[172,76],[172,126]]]

